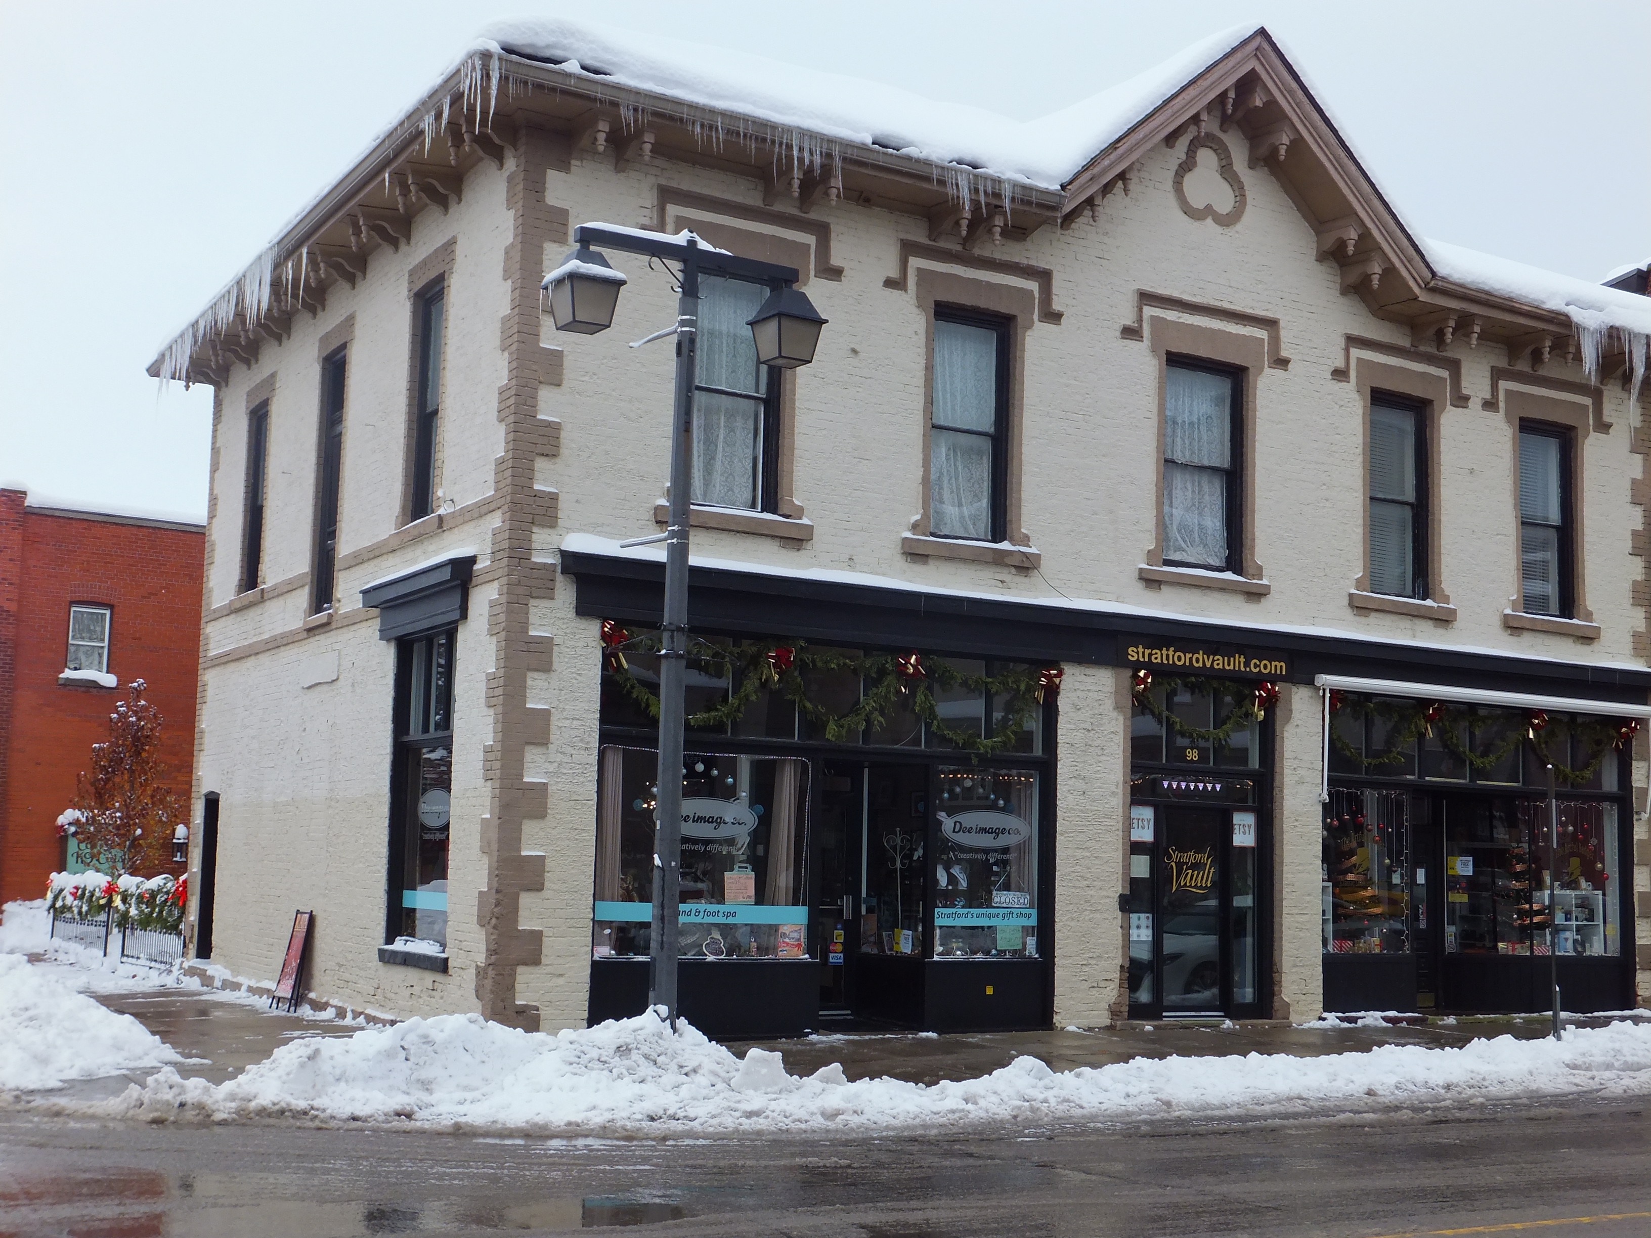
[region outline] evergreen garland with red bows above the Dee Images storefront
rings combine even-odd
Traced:
[[[659,720],[659,693],[631,670],[624,650],[659,654],[664,642],[657,636],[631,636],[624,629],[604,626],[606,672],[619,690],[636,702],[649,718]],[[712,642],[692,639],[688,662],[715,678],[730,680],[726,700],[688,715],[688,730],[708,731],[731,726],[763,692],[778,692],[797,706],[804,718],[826,733],[832,743],[844,743],[867,726],[882,726],[900,708],[908,708],[930,728],[958,748],[991,756],[1020,741],[1027,725],[1037,716],[1047,692],[1058,690],[1060,677],[1037,667],[1017,667],[997,675],[969,675],[938,657],[918,654],[854,654],[835,649],[811,649],[806,644],[774,645],[759,640]],[[860,700],[842,713],[827,710],[809,697],[807,673],[847,673],[860,678]],[[979,736],[949,726],[939,716],[931,683],[943,692],[967,688],[989,700],[1009,698],[1009,716],[997,735]]]

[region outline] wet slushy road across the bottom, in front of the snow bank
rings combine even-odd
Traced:
[[[0,1235],[1651,1233],[1639,1104],[971,1137],[537,1141],[0,1113]]]

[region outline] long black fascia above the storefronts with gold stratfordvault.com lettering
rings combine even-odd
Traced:
[[[578,614],[659,622],[665,565],[591,551],[561,551],[561,571],[578,579]],[[852,584],[761,571],[695,566],[688,573],[695,627],[733,636],[786,632],[804,640],[931,649],[967,657],[1131,665],[1141,639],[1197,645],[1256,642],[1288,657],[1291,683],[1314,675],[1418,678],[1461,688],[1511,682],[1534,695],[1644,703],[1651,670],[1587,662],[1509,657],[1265,626],[1093,611],[1010,598],[969,598],[923,589]]]

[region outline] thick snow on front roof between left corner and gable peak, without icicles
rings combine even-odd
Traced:
[[[599,86],[631,86],[827,139],[1058,190],[1096,152],[1256,31],[1258,26],[1223,30],[1129,81],[1025,122],[984,107],[926,99],[898,86],[561,17],[495,21],[480,31],[477,50],[550,61]]]

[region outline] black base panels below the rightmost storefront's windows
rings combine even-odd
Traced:
[[[1534,954],[1446,954],[1440,1014],[1540,1014],[1554,1007],[1549,959]],[[1625,959],[1559,959],[1560,1002],[1578,1015],[1625,1010],[1633,974]],[[1413,954],[1326,954],[1326,1010],[1417,1010]]]

